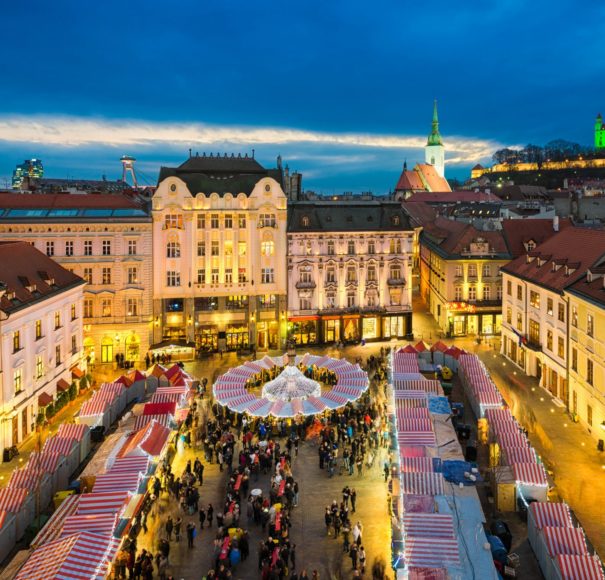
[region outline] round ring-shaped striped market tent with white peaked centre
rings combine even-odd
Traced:
[[[334,386],[322,385],[304,371],[330,376]],[[261,385],[260,396],[251,392]],[[307,353],[245,362],[218,377],[212,392],[231,411],[254,417],[295,417],[344,407],[361,397],[368,386],[368,374],[359,365]]]

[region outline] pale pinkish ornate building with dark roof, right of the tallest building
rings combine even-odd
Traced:
[[[408,336],[413,236],[397,202],[291,203],[289,337],[319,344]]]

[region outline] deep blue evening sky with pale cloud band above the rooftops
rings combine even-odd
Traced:
[[[325,193],[392,188],[423,159],[439,102],[446,175],[504,145],[591,144],[605,113],[605,5],[34,0],[1,11],[0,187],[49,177],[147,181],[193,151],[281,154]]]

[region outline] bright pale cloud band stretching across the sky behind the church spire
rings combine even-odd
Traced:
[[[65,148],[298,144],[366,150],[418,150],[426,143],[426,137],[420,135],[335,133],[280,127],[7,115],[0,116],[0,140]],[[490,157],[494,150],[502,147],[491,140],[456,136],[448,136],[445,145],[448,163],[459,165]]]

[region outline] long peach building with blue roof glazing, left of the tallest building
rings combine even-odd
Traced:
[[[151,217],[122,194],[0,194],[0,240],[19,240],[86,281],[90,362],[145,358],[151,331]]]

